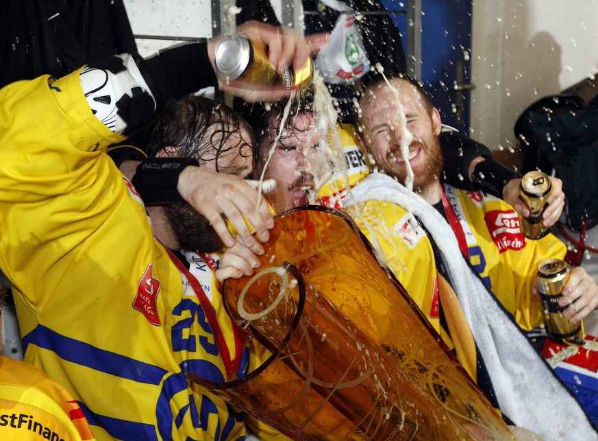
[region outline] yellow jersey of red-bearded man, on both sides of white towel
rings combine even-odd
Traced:
[[[494,196],[449,185],[444,188],[462,226],[475,270],[519,326],[529,330],[540,325],[542,302],[531,293],[538,263],[553,257],[562,259],[564,244],[553,235],[527,240],[519,230],[517,213]],[[406,208],[384,200],[361,202],[348,207],[347,212],[440,332],[436,265],[425,231],[413,224]]]

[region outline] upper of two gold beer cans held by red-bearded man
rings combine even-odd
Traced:
[[[530,208],[530,215],[519,215],[519,226],[527,239],[540,239],[550,232],[550,227],[542,224],[542,215],[551,192],[550,178],[541,171],[530,171],[521,178],[519,197]]]

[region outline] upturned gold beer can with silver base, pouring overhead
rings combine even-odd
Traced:
[[[229,80],[242,78],[251,84],[271,86],[282,83],[287,89],[302,90],[310,84],[314,67],[312,59],[295,72],[292,67],[284,69],[279,75],[270,64],[265,43],[249,40],[240,35],[223,37],[216,45],[216,71]]]

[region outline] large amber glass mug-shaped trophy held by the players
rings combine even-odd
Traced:
[[[223,296],[269,357],[193,382],[298,440],[514,439],[347,215],[287,211],[264,250]]]

